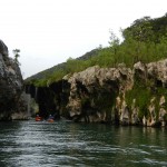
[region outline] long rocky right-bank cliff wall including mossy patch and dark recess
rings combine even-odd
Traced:
[[[167,59],[132,69],[88,68],[46,88],[29,89],[42,114],[75,121],[165,126],[167,122]]]

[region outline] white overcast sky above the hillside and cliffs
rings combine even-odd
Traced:
[[[20,49],[23,78],[108,46],[109,30],[163,17],[167,0],[0,0],[0,39]]]

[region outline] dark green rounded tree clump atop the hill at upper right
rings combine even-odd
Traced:
[[[153,41],[155,43],[160,42],[163,36],[167,36],[167,16],[161,18],[151,19],[150,17],[144,17],[132,22],[130,27],[122,31],[125,39],[132,38],[137,41]]]

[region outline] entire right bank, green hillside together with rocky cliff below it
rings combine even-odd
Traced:
[[[145,126],[167,122],[167,16],[144,17],[121,33],[121,42],[110,32],[109,47],[69,58],[26,80],[43,117],[56,114],[77,121]]]

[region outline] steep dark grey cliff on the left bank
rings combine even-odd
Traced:
[[[8,47],[0,40],[0,120],[27,117],[22,90],[23,80],[19,66],[9,58]],[[23,115],[20,117],[19,112]]]

